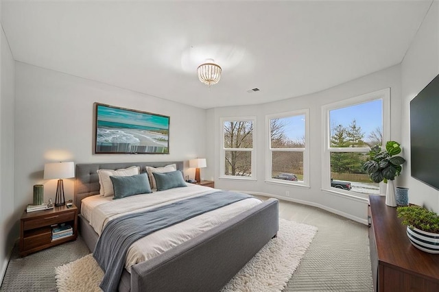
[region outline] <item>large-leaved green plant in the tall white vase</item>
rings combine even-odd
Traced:
[[[385,150],[381,150],[379,145],[370,148],[370,160],[364,162],[363,169],[366,171],[370,179],[374,182],[387,182],[394,180],[401,173],[401,166],[405,159],[401,156],[395,156],[401,153],[400,144],[395,141],[385,143]]]

